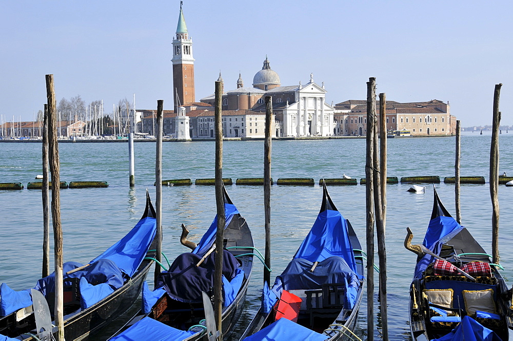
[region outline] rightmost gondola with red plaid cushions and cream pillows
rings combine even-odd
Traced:
[[[407,231],[404,245],[418,255],[409,294],[412,339],[507,340],[511,290],[500,266],[450,216],[436,189],[422,245],[411,245]]]

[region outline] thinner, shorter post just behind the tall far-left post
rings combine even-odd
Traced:
[[[43,118],[43,277],[50,274],[50,196],[48,194],[48,104]]]

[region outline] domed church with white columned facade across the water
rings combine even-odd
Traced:
[[[313,74],[310,74],[310,81],[304,86],[300,81],[298,85],[282,87],[280,76],[270,68],[267,57],[262,70],[253,77],[252,87],[244,87],[239,74],[236,89],[223,92],[222,109],[265,113],[265,96],[272,97],[275,116],[273,135],[300,137],[334,134],[334,108],[325,103],[324,83],[319,86],[313,81]],[[212,105],[214,95],[201,101]]]

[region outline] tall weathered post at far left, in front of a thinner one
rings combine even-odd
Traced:
[[[55,257],[55,324],[58,328],[57,341],[64,341],[64,288],[63,288],[63,230],[61,226],[61,176],[59,174],[59,148],[57,133],[57,110],[53,75],[46,75],[46,96],[48,99],[48,158],[52,175],[52,222]]]

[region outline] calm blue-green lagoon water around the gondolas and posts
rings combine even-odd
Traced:
[[[488,180],[490,135],[464,133],[462,176],[484,176]],[[513,174],[513,134],[500,135],[500,174]],[[61,180],[108,181],[108,188],[64,189],[61,191],[65,261],[88,262],[119,240],[144,211],[145,190],[155,198],[155,143],[135,143],[135,188],[128,186],[127,143],[62,143]],[[454,176],[455,139],[388,139],[388,176]],[[223,176],[263,176],[263,141],[225,141]],[[22,182],[25,187],[42,174],[41,144],[0,143],[0,182]],[[337,178],[346,174],[365,177],[365,140],[301,140],[272,142],[274,180],[287,177]],[[163,179],[213,178],[214,142],[176,142],[163,145]],[[408,287],[415,254],[403,247],[406,227],[421,243],[432,209],[432,186],[423,194],[410,194],[407,184],[387,186],[386,248],[388,261],[388,322],[391,339],[409,339],[407,325]],[[455,215],[454,186],[437,187],[445,206]],[[349,219],[365,244],[365,187],[331,186],[333,202]],[[227,186],[230,198],[250,225],[255,245],[264,250],[263,188]],[[322,189],[271,187],[272,274],[281,273],[317,217]],[[513,274],[510,245],[513,242],[513,187],[499,187],[500,254],[506,280]],[[213,186],[163,188],[163,250],[171,260],[187,252],[180,244],[181,224],[189,226],[189,238],[198,241],[215,212]],[[461,186],[462,220],[481,245],[491,252],[491,201],[489,185]],[[0,190],[0,283],[15,290],[32,287],[41,276],[42,204],[40,190]],[[53,241],[53,238],[50,237]],[[377,245],[377,244],[376,244]],[[377,257],[377,256],[376,256]],[[376,260],[377,261],[377,260]],[[255,266],[248,289],[246,310],[233,339],[245,329],[260,305],[262,266]],[[376,288],[378,286],[376,275]],[[365,296],[365,295],[364,295]],[[357,333],[365,337],[366,302],[361,306]],[[375,312],[379,312],[377,291]],[[133,308],[134,310],[136,307]],[[378,326],[377,318],[369,322]],[[111,330],[99,335],[105,339]],[[375,328],[379,337],[379,328]]]

